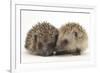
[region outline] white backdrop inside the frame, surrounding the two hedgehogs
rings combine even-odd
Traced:
[[[73,11],[75,12],[75,11]],[[90,30],[90,18],[91,14],[85,14],[85,13],[61,13],[61,12],[41,12],[41,11],[22,11],[21,13],[22,19],[21,19],[21,49],[22,49],[22,63],[39,63],[39,62],[68,62],[68,61],[83,61],[83,60],[89,60],[91,57],[91,52],[94,51],[90,46],[93,46],[90,44],[92,41],[90,39],[91,37],[91,31]],[[86,30],[89,38],[89,46],[87,48],[88,52],[84,53],[80,56],[52,56],[52,57],[40,57],[35,55],[30,55],[27,50],[25,49],[25,39],[27,32],[38,22],[47,21],[50,22],[53,26],[56,28],[60,28],[62,25],[68,22],[76,22],[82,25],[82,27]],[[91,49],[91,50],[90,50]]]

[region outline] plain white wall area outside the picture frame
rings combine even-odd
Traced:
[[[37,2],[39,0],[36,0]],[[45,1],[48,1],[48,0],[43,0],[44,2]],[[55,0],[50,0],[50,2],[52,2]],[[9,0],[1,0],[0,1],[0,33],[1,33],[1,36],[0,36],[0,73],[8,73],[7,71],[9,70],[9,67],[10,67],[10,1]],[[49,1],[48,1],[49,2]],[[57,2],[60,2],[60,3],[68,3],[68,4],[87,4],[87,5],[95,5],[96,6],[96,10],[97,10],[97,17],[96,17],[96,39],[97,39],[97,42],[96,42],[96,57],[97,57],[97,64],[95,67],[90,67],[90,68],[68,68],[68,69],[64,69],[64,70],[51,70],[51,71],[48,71],[48,70],[45,70],[45,71],[36,71],[34,73],[65,73],[65,72],[68,72],[68,73],[99,73],[99,69],[100,69],[100,47],[99,47],[99,40],[100,40],[100,2],[99,0],[57,0]],[[32,72],[33,73],[33,72]]]

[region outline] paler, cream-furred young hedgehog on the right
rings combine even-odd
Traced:
[[[87,47],[87,33],[78,23],[67,23],[59,29],[56,54],[80,55]]]

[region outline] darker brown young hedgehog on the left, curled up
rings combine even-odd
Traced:
[[[53,55],[58,37],[58,30],[48,22],[35,25],[27,34],[25,48],[32,54]]]

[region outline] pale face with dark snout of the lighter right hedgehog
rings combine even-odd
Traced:
[[[57,50],[71,50],[75,48],[77,32],[60,33],[57,42]]]

